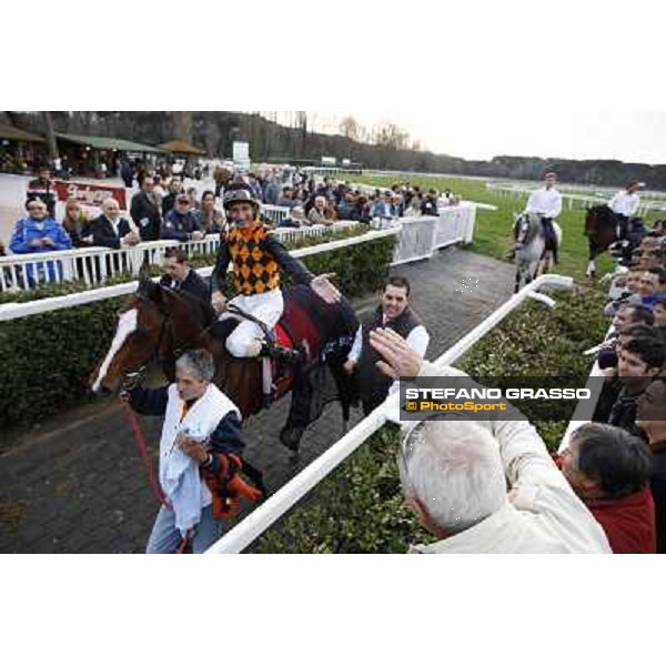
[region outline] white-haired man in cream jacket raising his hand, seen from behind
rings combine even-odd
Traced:
[[[394,331],[371,333],[391,376],[466,376],[413,352]],[[406,501],[440,541],[412,553],[610,553],[601,525],[527,421],[425,420],[400,453]]]

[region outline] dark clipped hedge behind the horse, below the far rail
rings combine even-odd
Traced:
[[[340,238],[343,234],[335,234],[335,240]],[[381,285],[395,238],[306,256],[303,263],[314,273],[337,273],[343,292],[357,296]],[[194,265],[200,262],[210,265],[211,260],[194,258]],[[230,282],[228,286],[231,296]],[[74,291],[81,291],[79,285],[52,285],[40,295]],[[31,300],[10,296],[4,300]],[[39,423],[87,400],[89,374],[111,343],[115,312],[125,300],[109,299],[0,324],[0,427]]]

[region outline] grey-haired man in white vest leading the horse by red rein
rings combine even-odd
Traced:
[[[241,470],[244,443],[240,410],[212,383],[214,372],[210,352],[191,350],[176,361],[174,384],[128,391],[135,412],[164,415],[160,438],[164,501],[148,539],[149,554],[176,553],[184,543],[203,553],[221,535],[206,473],[230,483]]]

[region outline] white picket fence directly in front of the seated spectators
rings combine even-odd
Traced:
[[[276,229],[275,234],[283,242],[303,238],[321,236],[325,232],[341,233],[359,229],[361,223],[352,221],[336,222],[331,226],[323,224],[297,229]],[[88,286],[102,284],[119,273],[138,275],[144,261],[158,265],[164,259],[168,248],[182,248],[188,254],[215,254],[220,248],[220,235],[208,234],[201,241],[152,241],[124,246],[120,250],[109,248],[79,248],[57,252],[33,254],[11,254],[0,256],[0,292],[23,291],[46,283],[59,283],[81,280]]]

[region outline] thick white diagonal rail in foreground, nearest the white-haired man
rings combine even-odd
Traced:
[[[538,300],[553,305],[554,302],[538,294],[542,287],[571,289],[572,278],[562,275],[541,275],[531,284],[524,286],[517,294],[501,305],[478,326],[467,333],[436,361],[437,367],[451,365],[467,350],[478,342],[488,331],[494,329],[507,314],[518,307],[526,299],[538,296]],[[261,506],[256,507],[246,518],[229,531],[213,544],[206,554],[241,553],[255,538],[263,534],[275,521],[284,515],[299,500],[309,493],[317,483],[323,481],[337,465],[359,448],[373,433],[379,431],[387,421],[400,422],[400,393],[391,395],[382,405],[369,414],[346,435],[325,451],[307,467],[271,495]]]

